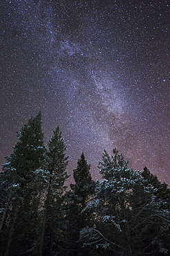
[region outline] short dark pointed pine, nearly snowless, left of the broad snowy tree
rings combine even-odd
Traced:
[[[80,247],[78,248],[80,244],[77,243],[80,230],[85,226],[90,226],[89,214],[83,212],[83,209],[94,198],[96,183],[92,181],[89,170],[90,165],[87,164],[82,153],[76,169],[73,170],[75,183],[70,184],[71,191],[67,192],[67,241],[72,241],[72,247],[69,244],[70,255],[71,248],[77,252],[80,250]],[[76,255],[75,251],[74,255]]]

